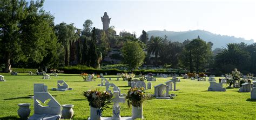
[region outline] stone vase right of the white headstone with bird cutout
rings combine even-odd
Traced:
[[[74,115],[73,104],[63,104],[62,105],[62,117],[64,119],[71,119]]]

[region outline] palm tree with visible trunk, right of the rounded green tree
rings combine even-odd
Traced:
[[[156,57],[156,64],[158,62],[158,54],[163,52],[164,47],[164,39],[156,36],[153,37],[148,43],[147,43],[147,53],[152,54]]]

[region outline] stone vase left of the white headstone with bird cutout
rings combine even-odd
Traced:
[[[19,109],[18,109],[18,115],[21,117],[21,119],[28,119],[29,114],[30,114],[30,103],[19,103],[18,104]]]

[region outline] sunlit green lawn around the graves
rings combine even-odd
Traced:
[[[105,90],[105,87],[97,86],[100,79],[85,82],[79,74],[60,74],[58,77],[51,76],[50,80],[42,79],[42,76],[27,76],[19,74],[1,73],[6,81],[0,82],[0,119],[17,119],[18,103],[31,103],[31,115],[33,115],[33,84],[44,83],[48,86],[48,92],[55,96],[60,104],[74,104],[75,115],[73,119],[87,119],[90,116],[89,103],[82,95],[88,89]],[[120,87],[122,93],[127,93],[127,81],[116,81],[118,76],[111,77],[110,83]],[[170,78],[157,78],[153,81],[152,89],[147,93],[154,93],[153,86],[164,83]],[[215,78],[215,79],[218,79]],[[65,80],[73,91],[51,91],[57,87],[57,80]],[[122,79],[120,79],[122,80]],[[146,81],[147,83],[147,81]],[[143,116],[145,119],[256,119],[256,101],[250,99],[250,93],[239,93],[238,88],[227,89],[226,92],[208,92],[208,81],[193,81],[181,79],[177,84],[180,91],[171,91],[177,94],[172,100],[152,99],[144,101]],[[226,84],[224,84],[226,87]],[[127,103],[120,103],[121,116],[131,116],[131,108]],[[103,112],[103,116],[111,116],[112,109]]]

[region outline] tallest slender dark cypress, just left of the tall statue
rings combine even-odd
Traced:
[[[96,48],[96,28],[93,27],[92,30],[92,39],[89,49],[89,57],[90,57],[90,66],[92,68],[96,68],[97,63],[97,48]]]

